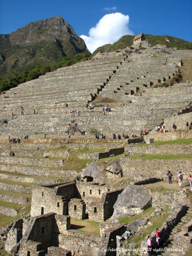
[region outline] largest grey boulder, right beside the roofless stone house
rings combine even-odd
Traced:
[[[141,186],[129,185],[118,195],[111,220],[133,216],[151,206],[151,195]]]

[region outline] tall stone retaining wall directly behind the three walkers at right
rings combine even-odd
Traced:
[[[167,171],[173,174],[172,179],[177,180],[179,171],[183,173],[183,182],[188,180],[191,174],[192,160],[190,159],[169,159],[169,160],[141,160],[131,158],[120,158],[119,164],[123,169],[123,174],[134,180],[142,180],[145,177],[156,177],[168,179]]]

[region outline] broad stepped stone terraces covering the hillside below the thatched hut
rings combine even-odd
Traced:
[[[70,119],[76,119],[82,131],[90,127],[108,130],[107,137],[113,131],[136,133],[140,127],[152,129],[156,123],[185,107],[191,87],[179,84],[150,88],[151,84],[163,82],[178,72],[182,53],[175,58],[174,50],[170,50],[171,54],[149,50],[128,57],[109,56],[77,63],[7,91],[0,96],[0,117],[8,121],[1,125],[1,137],[7,138],[8,134],[18,137],[26,132],[33,137],[35,134],[42,137],[45,133],[63,137]],[[191,57],[190,51],[188,57]],[[111,103],[112,111],[106,116],[102,107],[93,112],[85,108],[96,95],[117,100]],[[118,103],[119,100],[124,103]],[[68,108],[65,108],[66,103]],[[21,107],[24,115],[21,115]],[[74,109],[79,113],[70,113]],[[116,122],[117,115],[119,122]]]

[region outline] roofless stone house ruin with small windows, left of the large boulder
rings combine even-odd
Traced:
[[[34,186],[31,216],[55,212],[76,219],[105,221],[113,214],[113,205],[123,189],[89,182],[61,182]]]

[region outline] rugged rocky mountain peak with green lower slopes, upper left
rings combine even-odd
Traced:
[[[56,64],[65,56],[88,52],[84,40],[62,16],[31,22],[7,35],[0,35],[0,73],[29,70],[36,65]]]

